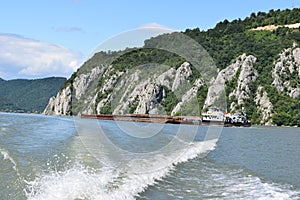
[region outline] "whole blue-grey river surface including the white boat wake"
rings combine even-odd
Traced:
[[[300,129],[0,113],[0,199],[300,199]]]

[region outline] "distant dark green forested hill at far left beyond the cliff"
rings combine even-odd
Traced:
[[[61,77],[7,81],[0,78],[0,111],[41,113],[65,81]]]

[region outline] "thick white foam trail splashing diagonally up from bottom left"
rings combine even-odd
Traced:
[[[95,171],[75,166],[27,182],[26,196],[29,200],[135,199],[148,186],[155,184],[156,180],[174,170],[178,163],[213,150],[216,142],[217,140],[196,142],[181,149],[181,152],[174,151],[170,155],[156,155],[145,160],[133,159],[122,169]],[[170,164],[159,168],[160,165],[165,166],[162,163]],[[141,169],[144,173],[141,173]]]

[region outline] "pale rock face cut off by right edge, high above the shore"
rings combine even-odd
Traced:
[[[285,49],[279,54],[272,71],[273,86],[279,92],[286,91],[292,98],[300,95],[300,48],[294,43],[293,48]]]

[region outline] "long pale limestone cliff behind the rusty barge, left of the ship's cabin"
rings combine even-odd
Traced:
[[[196,98],[198,89],[204,84],[200,78],[190,83],[192,75],[188,62],[177,69],[151,69],[151,73],[139,69],[124,73],[115,71],[112,65],[97,66],[88,73],[78,75],[56,97],[52,97],[44,114],[166,114],[161,103],[170,94],[177,94],[174,98],[178,103],[168,112],[175,115],[183,105]]]

